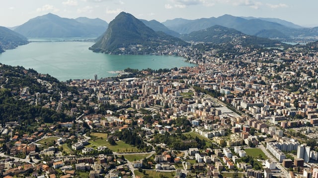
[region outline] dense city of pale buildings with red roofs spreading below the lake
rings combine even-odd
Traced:
[[[1,177],[318,178],[317,51],[236,50],[167,48],[197,65],[65,89],[10,68],[43,87],[10,87],[16,99],[62,114],[1,123]]]

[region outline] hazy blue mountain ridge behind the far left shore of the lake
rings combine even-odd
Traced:
[[[100,19],[80,17],[76,20],[48,13],[30,19],[16,27],[14,31],[28,38],[95,38],[105,31],[106,24]]]

